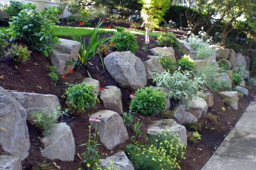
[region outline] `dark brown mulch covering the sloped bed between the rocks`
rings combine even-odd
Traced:
[[[85,37],[89,40],[89,37]],[[151,37],[150,48],[156,47],[156,38]],[[141,47],[144,43],[144,36],[137,36],[137,41],[139,44],[139,49],[136,52],[136,56],[141,58],[142,61],[147,60],[147,55],[152,55],[148,51],[143,51]],[[23,42],[18,42],[22,43]],[[49,58],[42,56],[38,51],[32,50],[30,45],[27,45],[31,53],[31,60],[26,63],[15,63],[8,56],[3,56],[0,59],[0,86],[6,90],[13,90],[18,92],[31,92],[31,93],[41,93],[41,94],[53,94],[56,95],[61,103],[62,109],[66,108],[65,99],[61,97],[67,88],[65,83],[81,83],[82,79],[88,77],[86,70],[74,69],[74,74],[69,74],[66,79],[59,75],[60,80],[54,83],[48,77],[49,70],[48,66],[51,65]],[[176,51],[176,59],[179,59],[182,54]],[[91,63],[91,64],[90,64]],[[121,89],[122,92],[122,102],[123,111],[129,111],[129,95],[132,91],[120,87],[117,82],[110,76],[107,71],[103,71],[101,60],[98,55],[90,60],[87,65],[87,69],[92,76],[99,80],[100,86],[104,87],[107,85],[114,85]],[[239,100],[239,110],[234,110],[222,104],[222,98],[218,94],[214,94],[214,106],[208,108],[208,112],[213,113],[218,116],[217,125],[211,124],[206,119],[200,120],[202,123],[202,131],[199,133],[202,135],[202,140],[197,144],[189,144],[187,146],[187,151],[185,154],[186,159],[181,162],[181,169],[201,169],[203,165],[207,162],[210,156],[216,151],[218,146],[221,144],[225,136],[234,127],[235,123],[239,120],[244,110],[247,108],[253,96],[255,94],[254,89],[249,90],[249,96],[245,96]],[[173,105],[172,105],[173,107]],[[222,111],[221,107],[224,107],[226,111]],[[91,109],[86,114],[77,115],[75,118],[72,116],[65,116],[63,120],[59,121],[66,122],[72,129],[72,133],[75,139],[75,153],[81,155],[85,151],[85,147],[79,146],[85,143],[88,139],[88,126],[89,126],[89,114],[95,113],[99,110],[105,110],[102,103],[97,103],[97,108],[95,110]],[[135,122],[137,119],[141,120],[141,131],[142,136],[139,138],[139,142],[145,142],[147,135],[147,127],[151,120],[163,119],[160,115],[156,117],[146,117],[139,114],[136,115]],[[56,164],[65,170],[76,170],[82,168],[83,164],[78,155],[75,155],[73,162],[59,161],[59,160],[48,160],[41,156],[40,150],[43,148],[40,138],[42,138],[41,131],[32,125],[28,125],[31,147],[29,151],[29,156],[22,161],[22,166],[25,170],[31,170],[38,167],[41,163],[56,162]],[[189,131],[189,129],[187,129]],[[134,135],[132,128],[128,128],[129,137]],[[118,151],[123,151],[126,148],[126,144],[129,144],[129,140],[125,143],[117,145],[113,150],[108,150],[106,147],[101,145],[99,147],[100,155],[102,158],[115,154]],[[52,164],[53,165],[53,164]]]

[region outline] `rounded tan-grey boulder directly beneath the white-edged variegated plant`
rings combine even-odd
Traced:
[[[208,105],[201,97],[195,97],[189,102],[190,108],[187,112],[193,114],[198,119],[206,116]]]

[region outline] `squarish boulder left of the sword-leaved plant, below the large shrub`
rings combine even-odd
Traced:
[[[59,39],[60,43],[55,44],[55,49],[50,53],[51,63],[56,67],[57,72],[62,75],[69,74],[74,65],[66,61],[77,61],[81,44],[77,41]]]

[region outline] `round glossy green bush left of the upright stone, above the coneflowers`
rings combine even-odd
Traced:
[[[95,108],[95,102],[99,99],[94,95],[94,87],[84,83],[71,84],[66,89],[66,103],[73,113],[84,113],[90,108]]]

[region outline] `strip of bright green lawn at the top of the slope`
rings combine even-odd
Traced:
[[[0,27],[0,30],[7,29],[8,27]],[[78,34],[81,36],[91,35],[94,28],[82,28],[82,27],[68,27],[68,26],[56,26],[54,27],[55,35],[58,37],[70,37],[72,33]],[[110,33],[113,34],[116,32],[116,29],[107,29],[107,28],[100,28],[99,33]],[[145,35],[145,31],[138,31],[138,30],[129,30],[131,33],[138,34],[138,35]],[[150,32],[150,36],[157,37],[159,33]]]

